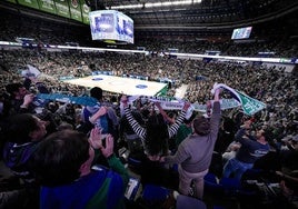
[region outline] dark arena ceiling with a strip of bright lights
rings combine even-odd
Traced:
[[[87,0],[92,10],[115,9],[132,18],[138,31],[193,31],[241,27],[277,18],[297,0]],[[236,26],[237,24],[237,26]]]

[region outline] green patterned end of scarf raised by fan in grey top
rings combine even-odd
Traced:
[[[235,90],[236,91],[236,90]],[[248,97],[247,94],[245,93],[241,93],[239,91],[237,91],[240,100],[241,100],[241,104],[242,104],[242,109],[245,111],[245,113],[249,115],[249,116],[252,116],[255,115],[256,112],[262,110],[264,108],[266,108],[266,104],[262,103],[261,101],[259,100],[256,100],[251,97]]]

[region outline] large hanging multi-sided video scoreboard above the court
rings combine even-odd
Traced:
[[[92,40],[133,43],[133,20],[116,10],[89,13]]]

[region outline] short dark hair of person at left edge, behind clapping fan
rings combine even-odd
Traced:
[[[33,115],[20,113],[8,119],[4,133],[10,142],[24,143],[31,141],[30,132],[39,130],[38,121]]]

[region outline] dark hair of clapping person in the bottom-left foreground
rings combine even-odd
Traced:
[[[62,130],[41,141],[32,158],[37,180],[43,186],[70,183],[80,177],[79,169],[89,159],[87,136]]]

